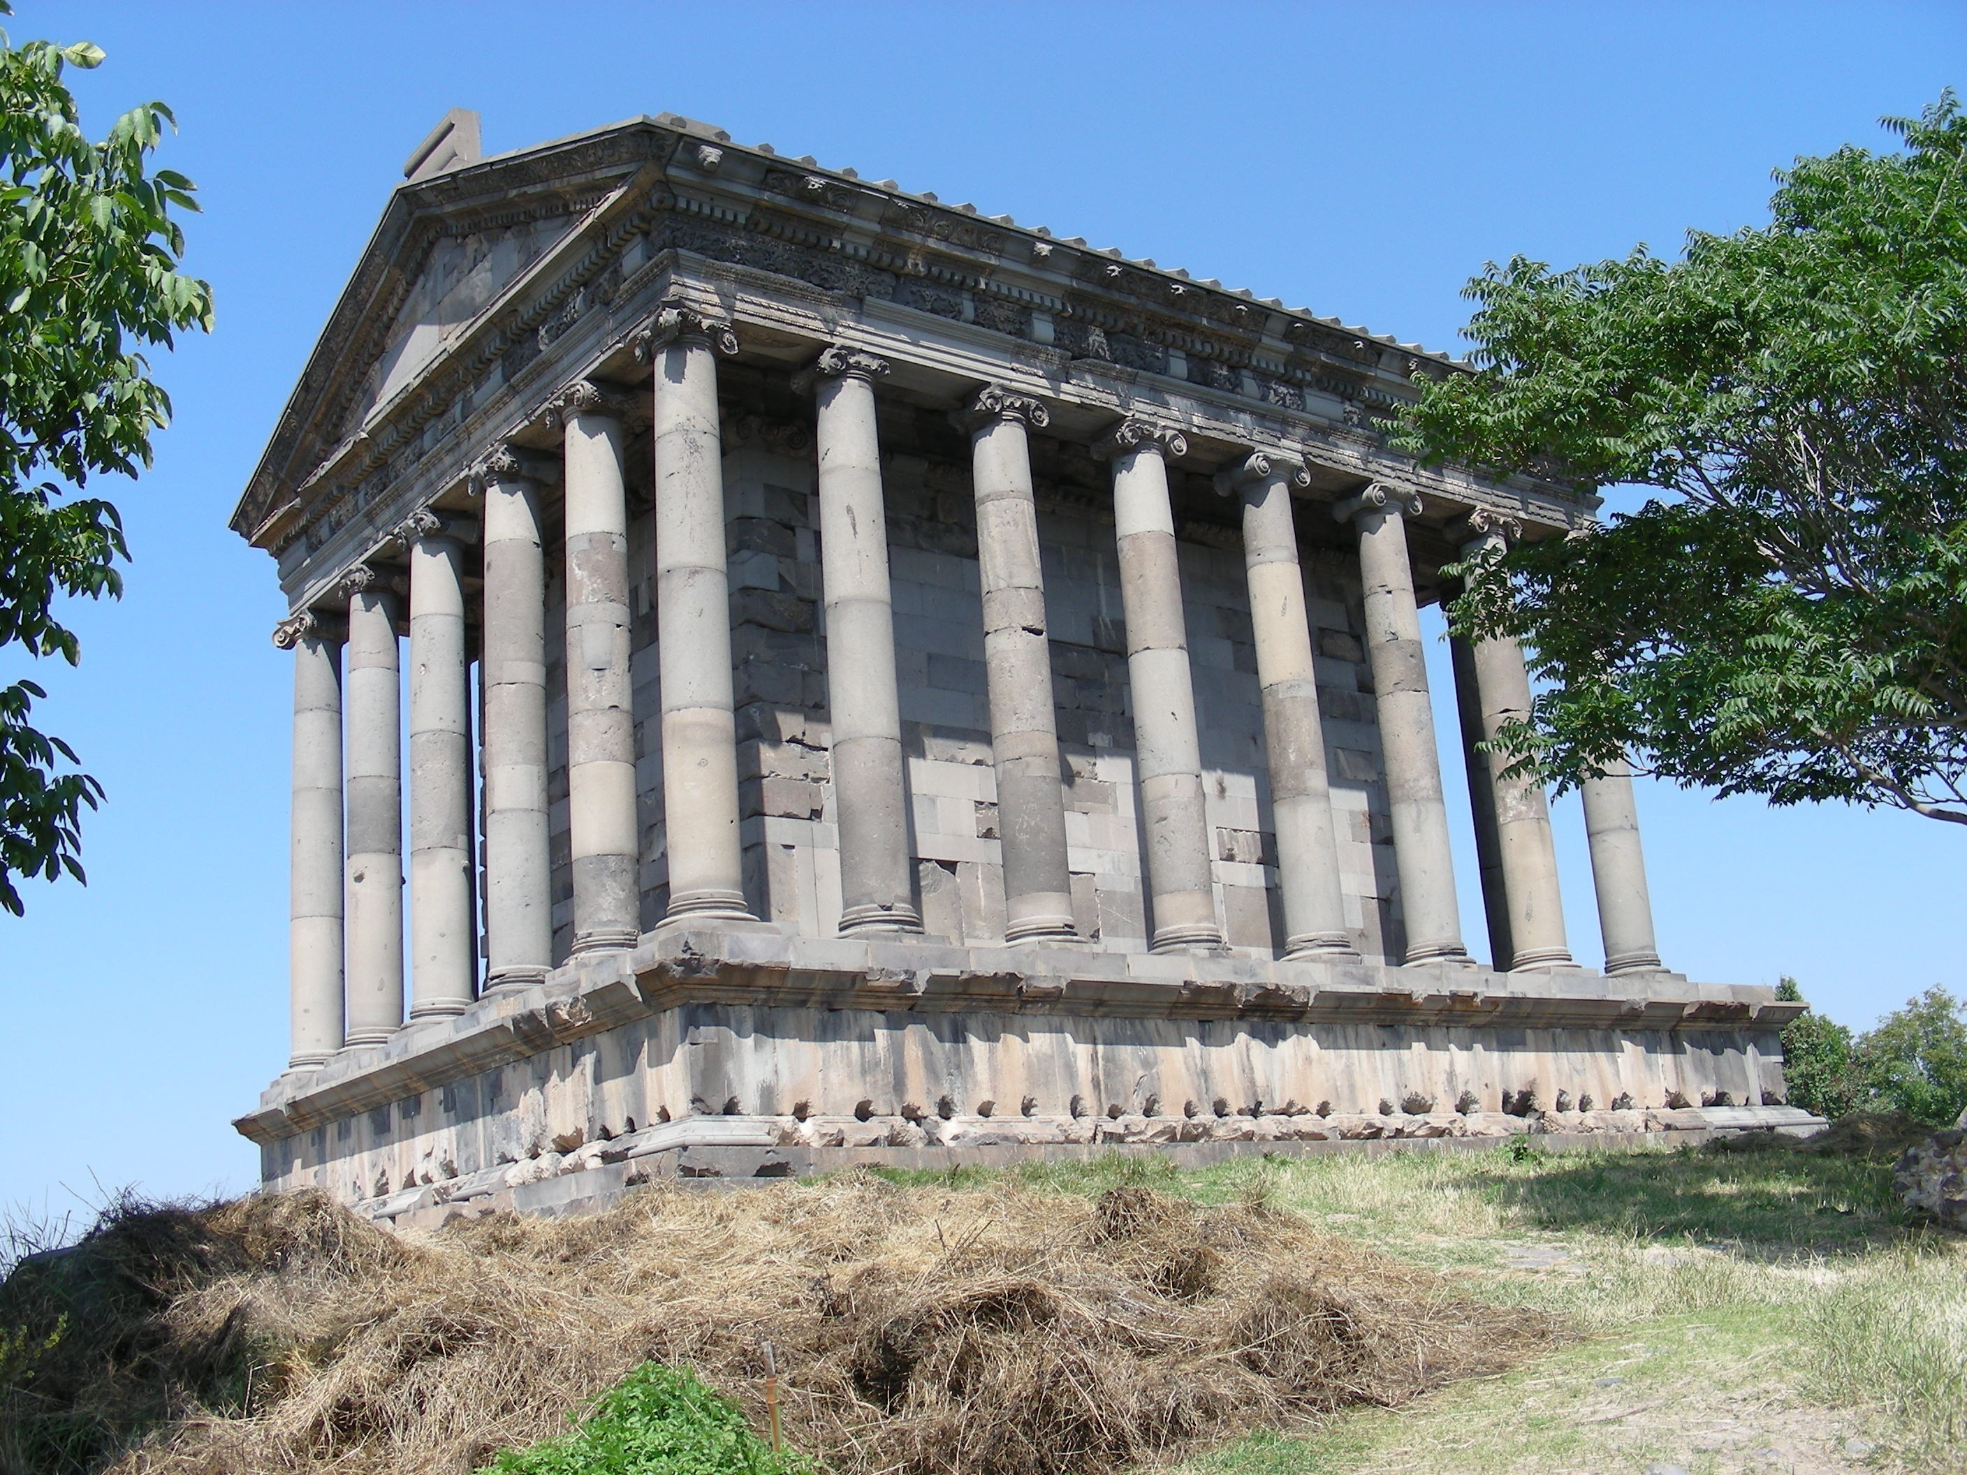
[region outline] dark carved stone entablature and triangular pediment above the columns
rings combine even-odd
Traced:
[[[445,252],[460,250],[470,271],[445,266]],[[1062,399],[1084,393],[1109,407],[1161,376],[1178,387],[1155,385],[1149,399],[1172,391],[1204,405],[1198,431],[1255,415],[1271,437],[1345,442],[1345,454],[1389,470],[1401,458],[1373,419],[1420,380],[1458,372],[1438,354],[1216,281],[736,146],[665,114],[395,191],[232,525],[287,568],[344,559],[352,523],[382,507],[401,517],[405,503],[470,486],[486,442],[543,444],[525,429],[529,411],[570,409],[559,385],[614,372],[610,354],[647,356],[688,338],[740,352],[744,323],[702,295],[704,264],[722,283],[749,281],[745,291],[777,293],[824,323],[879,301],[962,324],[968,342],[999,334],[1003,372],[1035,372],[1064,385]],[[437,299],[466,279],[476,285],[445,297],[439,313]],[[661,301],[651,323],[651,299],[679,279],[694,295]],[[447,326],[431,334],[433,323]],[[423,324],[415,340],[409,324]],[[924,340],[938,332],[924,323]],[[1591,505],[1585,490],[1530,490],[1536,521],[1564,521],[1554,515],[1564,503]]]

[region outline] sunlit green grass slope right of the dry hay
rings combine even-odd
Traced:
[[[1204,1202],[1263,1198],[1581,1333],[1406,1408],[1245,1438],[1192,1475],[1967,1469],[1967,1241],[1906,1219],[1888,1160],[1497,1149],[1198,1172],[1115,1154],[1013,1172],[1058,1192],[1147,1182]]]

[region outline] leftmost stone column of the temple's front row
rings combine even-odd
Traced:
[[[287,869],[291,1070],[342,1048],[342,641],[340,616],[301,610],[273,627],[293,651],[293,836]]]

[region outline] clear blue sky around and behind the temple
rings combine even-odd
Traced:
[[[1768,171],[1967,81],[1961,4],[89,4],[89,128],[144,98],[199,181],[218,330],[163,362],[177,423],[118,486],[136,562],[43,716],[106,783],[90,885],[0,916],[0,1206],[246,1188],[228,1121],[287,1056],[289,665],[271,560],[226,515],[403,157],[452,106],[488,149],[643,112],[974,201],[1094,246],[1456,348],[1489,258],[1578,262],[1762,220]],[[22,663],[0,657],[0,680]],[[1436,690],[1448,688],[1446,669]],[[1438,702],[1448,708],[1452,702]],[[1458,759],[1450,789],[1460,785]],[[1465,810],[1465,804],[1463,804]],[[1640,793],[1660,944],[1794,974],[1853,1025],[1967,983],[1967,836]],[[1458,818],[1465,834],[1465,814]],[[1597,928],[1560,806],[1576,946]],[[1458,857],[1479,936],[1473,861]],[[73,1190],[73,1194],[71,1194]]]

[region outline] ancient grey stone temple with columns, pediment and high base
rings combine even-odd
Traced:
[[[291,610],[269,1186],[1808,1121],[1798,1005],[1662,968],[1627,775],[1593,972],[1471,747],[1467,948],[1418,608],[1593,503],[1389,448],[1454,362],[667,114],[405,173],[232,519]],[[1471,745],[1528,702],[1456,677]]]

